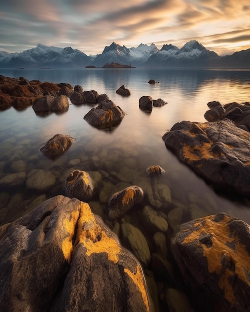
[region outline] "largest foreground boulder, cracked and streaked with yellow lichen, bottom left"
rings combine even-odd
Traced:
[[[76,198],[1,226],[0,250],[0,311],[154,311],[138,260]]]

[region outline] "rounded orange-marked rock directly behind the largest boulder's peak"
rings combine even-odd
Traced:
[[[94,195],[94,181],[86,171],[74,170],[65,180],[66,195],[88,201]]]

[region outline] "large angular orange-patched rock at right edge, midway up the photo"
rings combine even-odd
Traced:
[[[214,187],[250,195],[250,133],[228,119],[177,123],[163,136],[166,147]]]

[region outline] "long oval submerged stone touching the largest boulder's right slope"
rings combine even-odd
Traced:
[[[150,250],[141,230],[126,222],[120,225],[120,230],[122,238],[129,250],[131,250],[136,258],[147,267],[150,262]]]

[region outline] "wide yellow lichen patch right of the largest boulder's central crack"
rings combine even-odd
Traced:
[[[108,259],[118,262],[121,247],[116,240],[108,237],[101,226],[96,223],[95,217],[87,203],[81,203],[81,212],[78,220],[78,230],[75,244],[82,243],[87,249],[87,256],[93,253],[106,253]]]

